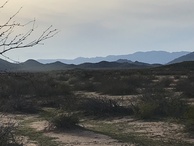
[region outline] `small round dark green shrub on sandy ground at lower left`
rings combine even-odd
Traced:
[[[74,129],[79,123],[79,118],[76,115],[58,114],[51,119],[51,123],[57,129]]]

